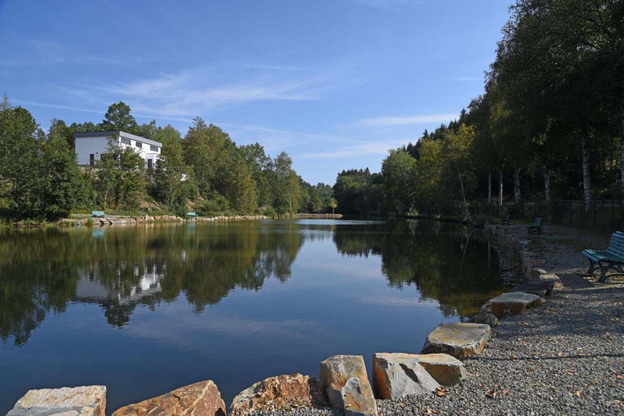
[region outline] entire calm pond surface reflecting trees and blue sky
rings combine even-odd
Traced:
[[[206,379],[229,405],[334,354],[418,353],[502,291],[498,264],[430,221],[0,231],[0,412],[29,389],[104,384],[112,412]]]

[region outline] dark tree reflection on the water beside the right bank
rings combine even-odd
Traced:
[[[445,316],[470,316],[502,289],[489,244],[469,228],[432,221],[338,226],[334,243],[346,255],[381,256],[390,286],[413,283]]]

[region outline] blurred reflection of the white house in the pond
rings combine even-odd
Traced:
[[[119,304],[128,304],[162,290],[160,281],[165,276],[164,265],[158,268],[151,262],[145,262],[142,267],[138,264],[135,265],[132,273],[134,278],[138,278],[138,281],[129,278],[127,273],[123,273],[122,277],[122,266],[123,264],[120,264],[120,268],[115,271],[114,279],[102,278],[100,270],[97,268],[91,271],[81,271],[80,279],[76,285],[77,300],[94,302],[116,299]],[[133,283],[129,284],[129,281]]]

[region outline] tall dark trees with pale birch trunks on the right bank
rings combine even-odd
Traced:
[[[624,2],[518,0],[510,12],[485,93],[391,150],[381,173],[339,173],[341,212],[470,220],[469,204],[492,195],[499,207],[583,198],[587,210],[624,196]]]

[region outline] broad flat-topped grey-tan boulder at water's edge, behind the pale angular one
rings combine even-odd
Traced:
[[[457,359],[472,357],[483,350],[491,336],[492,330],[485,324],[470,322],[439,324],[427,336],[421,354],[442,352]]]

